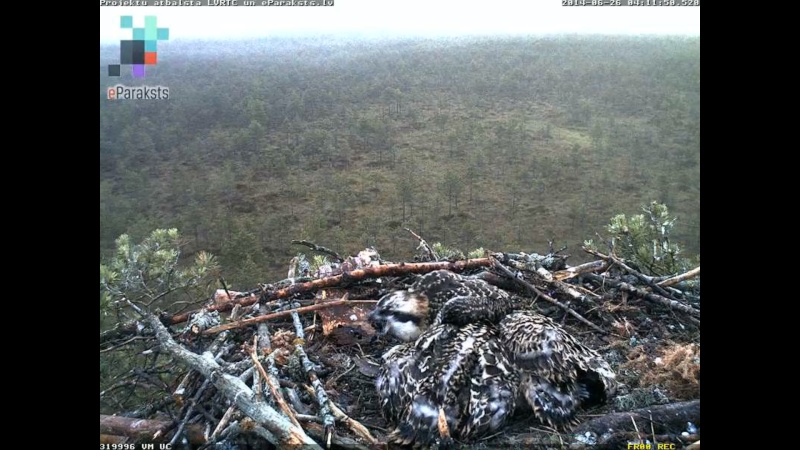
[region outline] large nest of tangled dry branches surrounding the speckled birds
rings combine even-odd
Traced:
[[[296,242],[333,263],[314,274],[293,266],[292,278],[247,292],[218,289],[181,314],[128,302],[138,319],[100,336],[101,361],[116,355],[130,366],[105,386],[101,380],[101,443],[385,447],[391,425],[380,415],[374,376],[393,344],[376,337],[366,316],[381,295],[447,269],[529,298],[606,357],[621,382],[617,397],[585,411],[571,432],[516,417],[475,447],[699,447],[700,294],[691,282],[699,267],[655,278],[590,249],[595,260],[574,267],[552,249],[442,261],[420,241],[422,256],[406,263],[374,251],[342,258]]]

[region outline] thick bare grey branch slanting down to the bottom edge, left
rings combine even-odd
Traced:
[[[203,376],[210,379],[214,386],[236,407],[257,423],[262,424],[270,433],[275,436],[278,446],[301,446],[309,448],[320,448],[317,443],[308,437],[302,428],[292,424],[285,416],[275,411],[271,406],[253,400],[253,391],[238,377],[229,375],[222,370],[222,367],[214,360],[213,355],[204,353],[198,355],[176,343],[169,330],[153,315],[144,314],[145,320],[156,332],[156,338],[161,347],[170,352],[185,365],[200,372]]]

